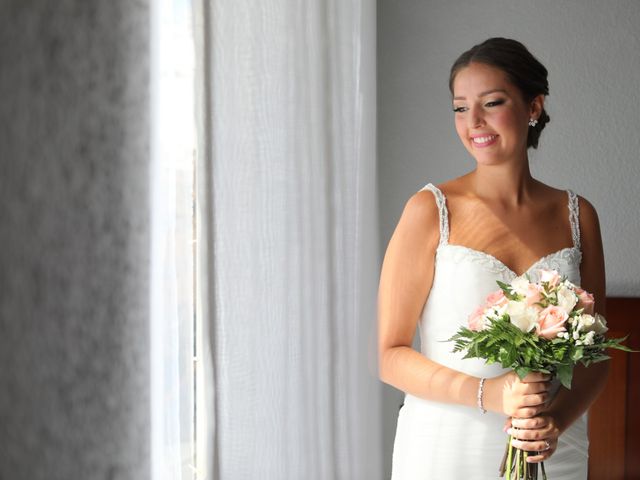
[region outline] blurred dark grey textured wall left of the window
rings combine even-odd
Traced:
[[[0,478],[149,478],[147,1],[0,2]]]

